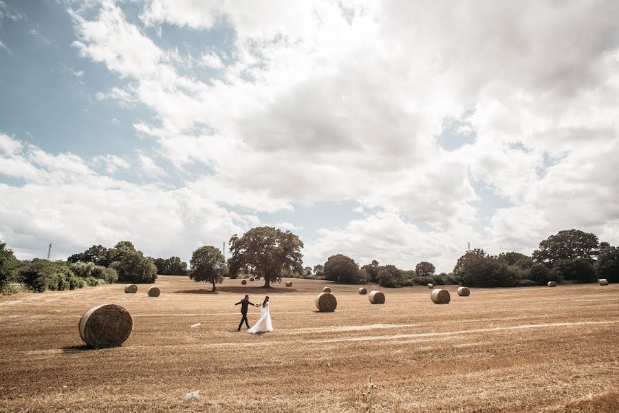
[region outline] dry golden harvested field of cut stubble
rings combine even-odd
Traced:
[[[158,298],[120,284],[1,297],[0,411],[362,412],[371,374],[373,412],[619,412],[619,285],[448,286],[447,305],[425,286],[382,288],[371,305],[358,286],[292,282],[211,294],[164,276]],[[326,285],[335,313],[314,306]],[[270,295],[274,332],[237,332],[245,293]],[[104,303],[127,308],[133,332],[89,350],[77,324]]]

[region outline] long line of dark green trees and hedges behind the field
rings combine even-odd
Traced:
[[[459,284],[470,287],[538,286],[550,280],[594,282],[606,278],[619,281],[619,248],[598,242],[593,233],[576,229],[559,231],[539,243],[531,256],[517,252],[489,255],[481,248],[466,251],[453,272],[435,273],[431,262],[420,262],[404,271],[378,260],[360,266],[351,257],[336,254],[324,264],[303,267],[303,242],[291,231],[272,226],[250,229],[229,242],[230,258],[214,246],[193,251],[189,266],[180,257],[145,257],[129,241],[112,248],[94,245],[66,262],[34,259],[18,261],[0,242],[0,288],[7,292],[11,282],[31,290],[63,290],[111,282],[155,282],[157,275],[188,275],[196,282],[216,284],[224,277],[252,275],[264,280],[264,287],[282,277],[327,279],[344,284],[375,282],[387,288],[425,284]],[[10,291],[8,291],[10,292]]]

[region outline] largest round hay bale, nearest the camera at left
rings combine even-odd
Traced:
[[[94,348],[116,347],[131,335],[133,319],[116,304],[102,304],[88,310],[78,324],[80,337]]]

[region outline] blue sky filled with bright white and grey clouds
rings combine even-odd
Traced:
[[[619,244],[619,2],[0,0],[0,240],[307,266]]]

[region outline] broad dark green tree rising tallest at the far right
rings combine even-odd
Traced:
[[[534,262],[553,267],[558,260],[573,260],[582,258],[594,263],[598,253],[598,237],[578,229],[559,231],[539,243],[539,248],[533,251]]]

